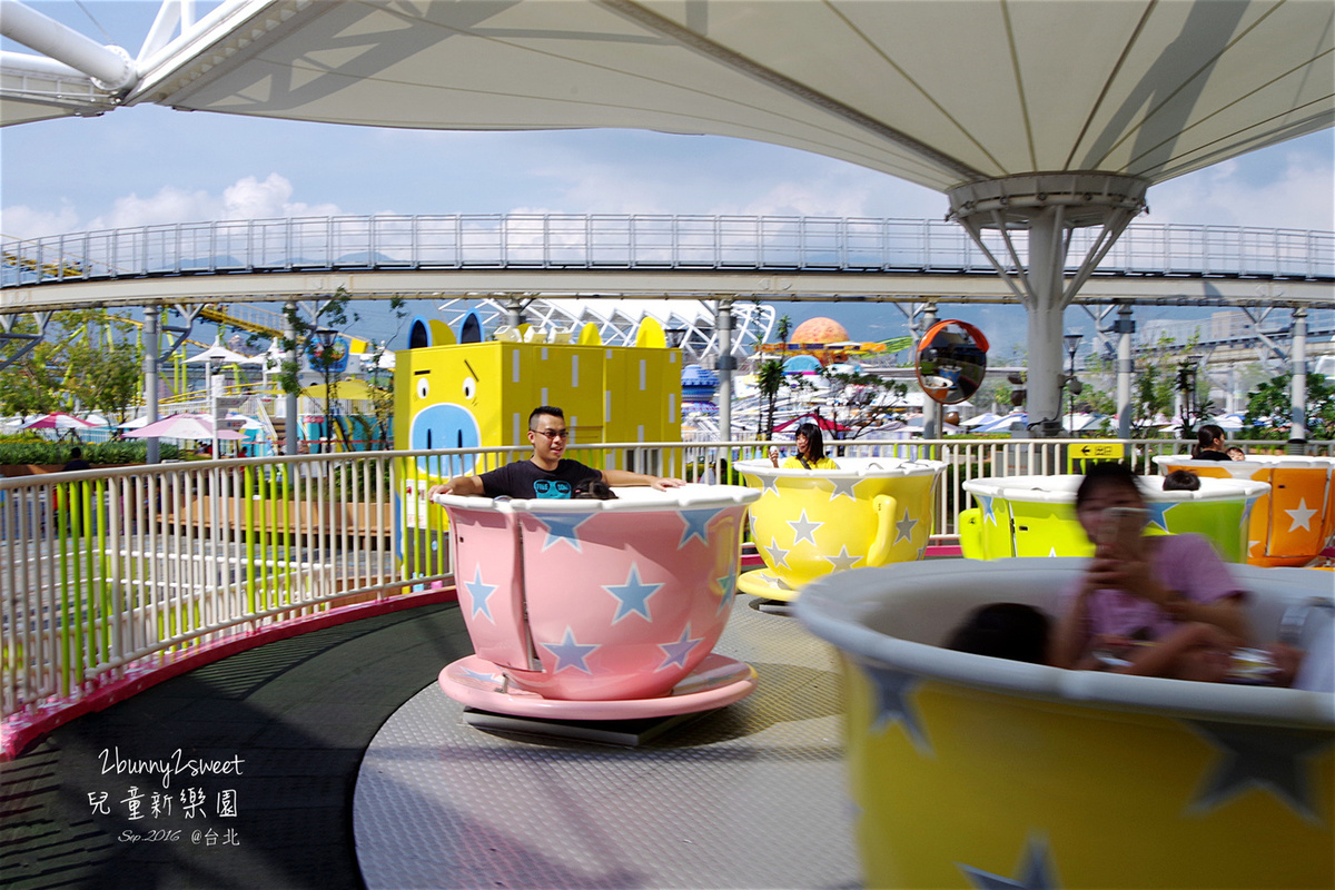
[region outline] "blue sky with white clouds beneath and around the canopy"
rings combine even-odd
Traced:
[[[156,0],[29,5],[131,55],[158,9]],[[1335,136],[1327,129],[1156,185],[1149,205],[1141,219],[1155,223],[1335,228]],[[945,209],[943,195],[885,173],[714,136],[370,129],[147,105],[0,133],[0,234],[7,238],[328,213],[940,219]],[[853,330],[854,336],[902,328],[894,308],[794,304],[780,311],[794,320],[832,315],[850,330],[868,328]],[[949,312],[992,326],[1001,346],[1023,339],[1017,308]],[[1143,318],[1172,312],[1147,310]],[[1077,310],[1068,316],[1084,322]]]

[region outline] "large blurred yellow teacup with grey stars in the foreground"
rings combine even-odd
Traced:
[[[939,646],[984,603],[1056,615],[1084,564],[933,560],[802,590],[797,616],[848,683],[864,886],[1335,886],[1330,575],[1232,567],[1256,642],[1288,628],[1308,650],[1294,689]]]

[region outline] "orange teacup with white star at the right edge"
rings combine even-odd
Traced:
[[[1251,512],[1247,562],[1254,566],[1306,566],[1335,543],[1335,458],[1256,455],[1246,460],[1192,460],[1159,455],[1160,472],[1187,470],[1207,479],[1270,483]]]

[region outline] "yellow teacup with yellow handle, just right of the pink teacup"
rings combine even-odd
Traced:
[[[750,532],[765,568],[737,579],[742,592],[794,599],[833,571],[922,558],[936,519],[940,460],[838,458],[838,470],[781,470],[738,460],[746,484],[761,488]]]

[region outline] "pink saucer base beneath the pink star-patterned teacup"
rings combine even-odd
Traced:
[[[485,658],[467,655],[445,666],[439,685],[454,701],[493,714],[554,721],[633,721],[693,714],[732,705],[756,689],[756,671],[746,662],[712,652],[668,695],[570,701],[543,698],[537,693],[510,686],[505,683],[501,667]]]

